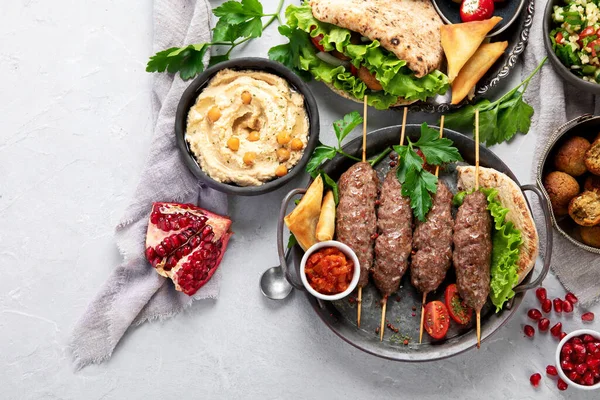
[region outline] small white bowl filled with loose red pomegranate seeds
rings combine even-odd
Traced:
[[[600,388],[600,333],[578,329],[565,336],[556,349],[556,369],[570,387]]]

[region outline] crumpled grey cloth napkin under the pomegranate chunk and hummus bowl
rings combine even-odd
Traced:
[[[154,51],[210,41],[211,10],[206,0],[155,0]],[[205,60],[206,61],[206,60]],[[177,104],[187,87],[178,76],[156,75],[152,90],[154,138],[133,201],[117,226],[116,240],[123,264],[77,322],[71,350],[77,369],[108,359],[131,325],[164,319],[189,306],[192,298],[175,290],[144,258],[147,221],[152,203],[196,203],[219,214],[227,212],[227,197],[203,187],[182,163],[175,144]],[[215,298],[220,273],[193,299]]]

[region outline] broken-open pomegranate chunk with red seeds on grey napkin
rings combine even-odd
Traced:
[[[231,236],[228,217],[192,204],[154,203],[146,259],[175,288],[192,296],[213,276]]]

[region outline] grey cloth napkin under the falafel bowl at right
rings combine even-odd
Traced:
[[[538,5],[541,5],[538,3]],[[546,56],[542,29],[544,10],[536,10],[529,42],[525,50],[523,77]],[[548,62],[549,64],[549,62]],[[538,162],[552,133],[562,124],[585,113],[598,114],[600,102],[592,94],[581,92],[562,80],[551,65],[546,65],[531,81],[525,93],[527,102],[535,109],[531,130],[536,135],[532,166],[533,180],[537,176]],[[541,211],[534,202],[536,220],[542,221]],[[540,230],[540,242],[545,243]],[[540,254],[543,254],[541,249]],[[581,303],[589,305],[600,298],[600,256],[574,246],[554,230],[552,271],[562,285],[575,293]]]

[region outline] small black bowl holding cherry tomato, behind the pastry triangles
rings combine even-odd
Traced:
[[[519,19],[525,3],[526,0],[504,0],[495,2],[494,15],[502,17],[502,21],[500,21],[487,36],[496,36],[506,31]],[[433,6],[445,23],[458,24],[462,22],[460,18],[460,3],[455,3],[452,0],[433,0]]]

